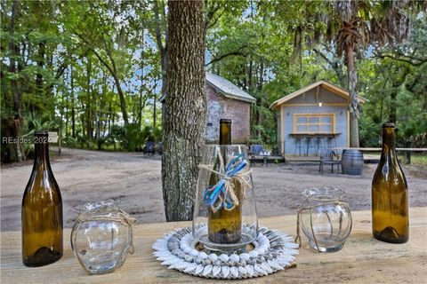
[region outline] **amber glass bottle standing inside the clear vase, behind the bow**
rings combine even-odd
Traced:
[[[220,121],[220,145],[227,146],[231,144],[231,121],[229,119],[222,119]],[[222,160],[224,163],[228,161],[227,147],[222,147]],[[219,159],[214,164],[214,170],[219,170]],[[220,177],[216,174],[211,175],[209,184],[216,185]],[[244,186],[240,184],[237,179],[231,179],[233,183],[234,192],[238,200],[242,201],[242,193]],[[234,209],[219,209],[214,211],[209,208],[207,217],[207,231],[209,241],[215,243],[236,243],[240,241],[242,229],[242,204],[239,203]]]

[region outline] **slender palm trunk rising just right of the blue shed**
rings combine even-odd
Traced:
[[[359,147],[359,101],[356,92],[358,75],[354,63],[354,53],[352,44],[347,44],[345,48],[345,58],[347,61],[347,75],[349,77],[350,92],[350,147]]]

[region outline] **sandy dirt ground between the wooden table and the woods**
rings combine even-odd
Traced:
[[[1,231],[20,230],[20,203],[31,169],[31,162],[2,167]],[[73,207],[101,199],[120,199],[121,207],[138,223],[165,221],[159,157],[64,149],[62,156],[52,159],[52,170],[60,185],[68,227],[77,217]],[[254,166],[259,216],[295,213],[302,202],[302,190],[316,185],[342,187],[350,209],[370,209],[375,165],[367,165],[361,177],[330,174],[328,170],[321,176],[317,165]],[[405,172],[410,205],[427,206],[427,178],[412,175],[410,169]]]

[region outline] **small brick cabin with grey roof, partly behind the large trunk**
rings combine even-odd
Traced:
[[[161,98],[163,103],[165,98]],[[243,144],[251,137],[251,105],[256,101],[246,91],[219,75],[206,73],[205,142],[218,143],[220,119],[231,120],[231,142]]]

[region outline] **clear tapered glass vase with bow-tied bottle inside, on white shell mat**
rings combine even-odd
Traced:
[[[199,165],[193,237],[209,251],[238,252],[257,237],[254,185],[242,145],[205,146]]]

